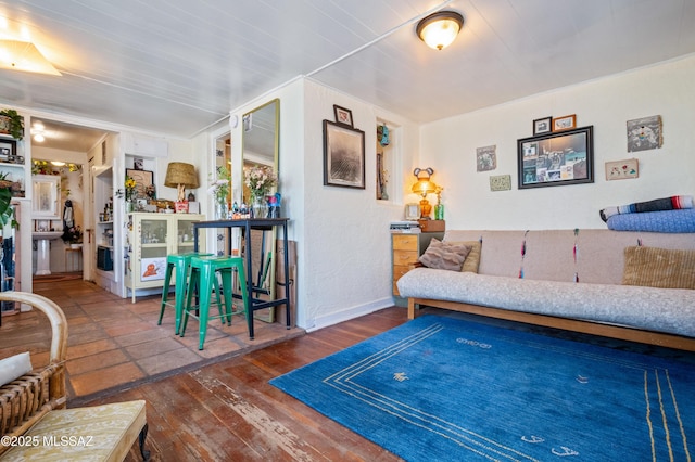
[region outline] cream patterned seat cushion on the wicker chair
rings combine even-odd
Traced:
[[[31,445],[13,447],[1,459],[123,461],[146,423],[143,400],[55,410],[24,434]]]

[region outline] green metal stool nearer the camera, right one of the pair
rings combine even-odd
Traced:
[[[232,312],[232,271],[237,271],[239,275],[239,284],[241,284],[241,301],[242,310]],[[200,280],[200,304],[198,305],[199,316],[192,315],[199,320],[199,346],[203,349],[205,343],[205,334],[207,333],[207,320],[210,318],[210,293],[214,282],[217,280],[217,273],[222,277],[222,291],[225,297],[226,315],[220,311],[219,317],[226,318],[231,325],[231,316],[243,312],[249,316],[249,300],[247,298],[247,277],[243,270],[243,258],[241,257],[192,257],[190,266],[189,285],[194,286]],[[195,306],[191,306],[192,291],[188,291],[186,296],[186,308],[184,308],[184,324],[181,325],[181,337],[186,333],[186,324],[191,311],[195,310]],[[220,307],[222,309],[222,307]]]

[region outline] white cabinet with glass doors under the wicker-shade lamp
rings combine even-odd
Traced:
[[[132,303],[137,290],[164,285],[167,255],[193,252],[193,223],[204,219],[204,215],[194,214],[128,215],[125,285]],[[204,241],[200,244],[205,248]],[[175,282],[172,277],[172,285]]]

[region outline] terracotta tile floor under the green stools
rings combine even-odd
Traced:
[[[68,325],[67,393],[79,400],[125,389],[134,385],[195,369],[230,356],[263,348],[303,335],[278,322],[255,320],[255,338],[249,338],[243,316],[231,326],[210,321],[204,349],[198,350],[198,320],[189,319],[186,337],[174,334],[174,312],[167,308],[162,325],[160,296],[121,298],[81,280],[41,282],[34,292],[55,301]],[[22,312],[2,319],[0,358],[31,352],[35,368],[48,363],[50,330],[40,312]]]

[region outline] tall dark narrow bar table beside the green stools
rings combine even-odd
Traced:
[[[198,248],[198,231],[204,228],[225,228],[231,231],[232,228],[241,228],[244,234],[245,248],[244,258],[247,260],[247,299],[249,300],[249,312],[247,313],[247,322],[249,323],[249,337],[253,339],[253,312],[264,309],[276,307],[279,305],[286,305],[286,326],[291,329],[291,316],[290,316],[290,262],[287,245],[287,223],[289,218],[245,218],[240,220],[211,220],[211,221],[197,221],[193,223],[193,251],[199,252]],[[283,265],[285,265],[285,281],[278,282],[278,284],[285,286],[285,297],[276,298],[275,300],[262,300],[254,298],[253,287],[253,258],[251,256],[251,230],[271,231],[274,229],[282,230],[283,241]],[[228,246],[231,248],[231,232],[228,236]],[[275,249],[274,249],[275,251]],[[276,295],[277,297],[277,295]]]

